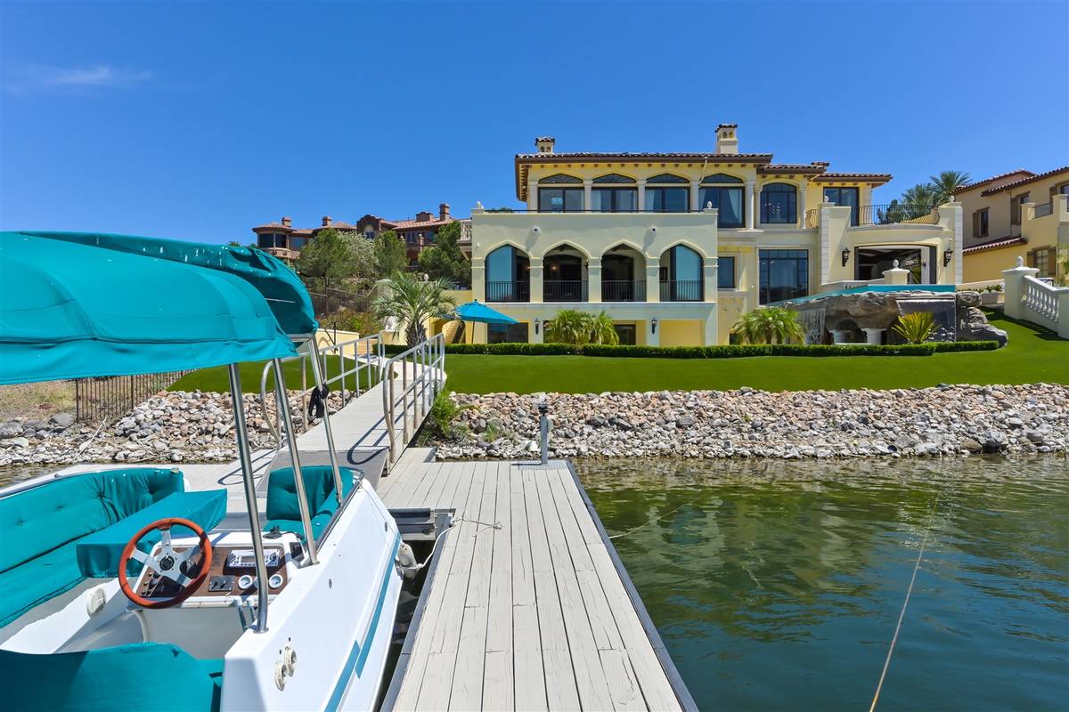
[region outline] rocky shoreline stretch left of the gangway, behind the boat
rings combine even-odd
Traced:
[[[328,397],[330,412],[341,394]],[[290,399],[294,427],[304,424],[299,397]],[[260,398],[245,394],[245,418],[253,448],[274,447],[268,424],[276,422],[275,401],[266,417]],[[157,393],[128,415],[96,427],[80,425],[67,413],[46,422],[15,418],[0,424],[0,466],[74,464],[78,462],[230,462],[237,458],[233,409],[229,394],[200,391]]]

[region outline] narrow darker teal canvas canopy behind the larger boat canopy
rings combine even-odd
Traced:
[[[79,244],[148,255],[159,259],[196,265],[228,272],[242,278],[267,300],[282,331],[291,335],[315,333],[319,325],[312,310],[312,300],[293,270],[280,260],[260,250],[250,250],[232,244],[207,244],[205,242],[184,242],[155,237],[134,235],[108,235],[105,233],[40,233],[28,232],[52,240],[64,240]]]

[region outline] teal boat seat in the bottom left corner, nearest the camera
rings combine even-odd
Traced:
[[[0,650],[5,712],[215,712],[222,660],[197,660],[166,643],[84,652]]]

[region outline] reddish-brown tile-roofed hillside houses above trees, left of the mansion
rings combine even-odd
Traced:
[[[314,238],[320,231],[334,227],[340,233],[360,233],[368,239],[375,239],[381,233],[394,231],[407,247],[408,262],[418,264],[419,253],[434,243],[434,237],[444,225],[454,222],[456,218],[449,215],[449,204],[438,205],[438,213],[422,211],[416,213],[415,220],[386,220],[378,216],[366,215],[356,224],[334,220],[324,216],[319,227],[293,227],[290,218],[280,222],[269,222],[257,225],[252,232],[257,235],[257,244],[261,250],[269,252],[279,259],[292,263],[300,254],[308,240]]]

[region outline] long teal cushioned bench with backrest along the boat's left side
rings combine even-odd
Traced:
[[[0,499],[0,628],[86,579],[81,539],[184,491],[177,470],[136,468],[62,477]],[[182,516],[157,511],[155,519]]]

